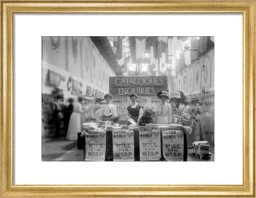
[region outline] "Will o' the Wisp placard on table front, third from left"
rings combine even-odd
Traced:
[[[161,158],[159,130],[139,131],[140,161],[157,161]]]

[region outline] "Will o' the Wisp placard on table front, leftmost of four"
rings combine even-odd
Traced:
[[[105,161],[106,131],[90,130],[85,133],[85,161]]]

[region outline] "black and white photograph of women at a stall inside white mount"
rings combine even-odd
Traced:
[[[214,37],[43,36],[42,161],[214,161]]]

